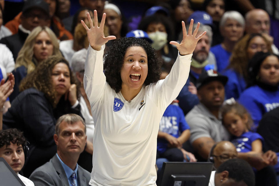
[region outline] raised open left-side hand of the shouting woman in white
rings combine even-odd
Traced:
[[[100,26],[98,26],[98,17],[97,17],[97,10],[94,10],[94,26],[92,19],[90,17],[89,12],[87,12],[87,19],[90,24],[90,28],[86,26],[86,24],[81,20],[81,24],[87,31],[87,38],[89,41],[90,46],[94,50],[101,50],[101,46],[108,42],[109,40],[116,39],[115,36],[110,35],[108,37],[105,37],[104,34],[104,25],[105,25],[105,13],[103,13],[103,17],[101,20]]]

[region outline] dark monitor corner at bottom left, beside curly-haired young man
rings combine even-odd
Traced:
[[[25,186],[4,158],[0,158],[0,185]]]

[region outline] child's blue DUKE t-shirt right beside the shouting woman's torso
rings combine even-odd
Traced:
[[[179,137],[179,134],[184,130],[190,129],[185,121],[182,109],[177,105],[169,105],[160,121],[159,131],[168,133],[174,137]],[[180,132],[180,133],[179,133]],[[157,139],[157,151],[163,153],[168,148],[168,141],[163,138]]]

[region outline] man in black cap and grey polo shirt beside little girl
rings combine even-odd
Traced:
[[[203,72],[197,82],[200,103],[186,115],[191,130],[190,143],[194,151],[207,160],[215,142],[228,141],[229,134],[219,118],[228,78],[212,69]]]

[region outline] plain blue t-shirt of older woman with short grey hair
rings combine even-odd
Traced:
[[[223,49],[221,44],[211,47],[210,51],[215,55],[217,71],[222,72],[228,66],[232,53]]]

